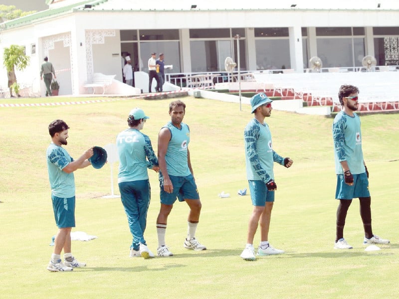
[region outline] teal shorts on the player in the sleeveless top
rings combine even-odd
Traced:
[[[184,201],[185,199],[200,199],[197,184],[192,174],[187,176],[169,175],[169,178],[173,185],[172,193],[165,192],[164,177],[160,175],[159,178],[161,203],[172,205],[175,203],[176,199],[179,199],[179,201]]]

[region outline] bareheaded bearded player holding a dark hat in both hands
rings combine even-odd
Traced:
[[[51,186],[51,200],[58,232],[55,235],[54,251],[47,270],[72,271],[84,267],[71,253],[71,230],[75,227],[75,178],[73,171],[90,165],[88,160],[93,155],[93,148],[86,150],[74,160],[62,147],[67,145],[68,125],[62,120],[55,120],[48,126],[51,144],[46,151],[48,177]],[[61,251],[64,250],[64,263]]]

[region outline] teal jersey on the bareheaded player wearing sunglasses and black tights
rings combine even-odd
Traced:
[[[341,161],[347,161],[352,174],[366,171],[362,150],[362,133],[360,131],[360,118],[354,113],[351,117],[340,111],[334,118],[333,140],[335,171],[343,174]]]

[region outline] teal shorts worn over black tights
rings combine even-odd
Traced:
[[[336,199],[353,199],[359,197],[370,197],[369,179],[366,172],[353,174],[353,185],[345,183],[343,174],[337,174]]]

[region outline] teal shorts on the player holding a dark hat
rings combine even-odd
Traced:
[[[61,198],[51,195],[51,200],[57,227],[75,227],[75,196]]]

